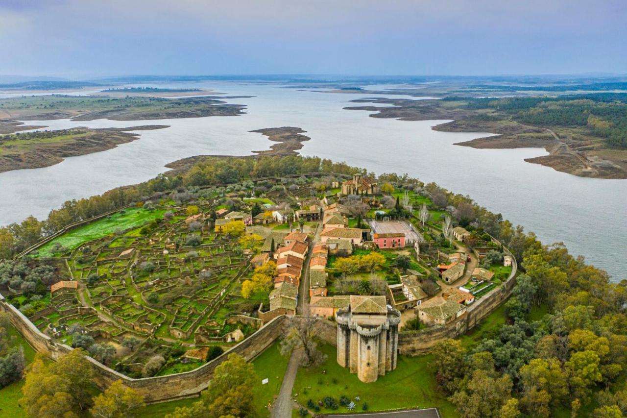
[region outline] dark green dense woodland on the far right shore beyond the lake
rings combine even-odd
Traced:
[[[627,94],[624,93],[470,99],[467,107],[498,110],[514,121],[534,126],[588,127],[593,134],[603,137],[609,147],[627,148]]]

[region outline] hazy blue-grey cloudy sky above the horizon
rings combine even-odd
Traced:
[[[627,73],[626,0],[0,0],[0,75]]]

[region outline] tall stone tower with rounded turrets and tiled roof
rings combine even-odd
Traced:
[[[350,296],[348,309],[337,313],[337,363],[375,382],[396,368],[401,313],[385,296]]]

